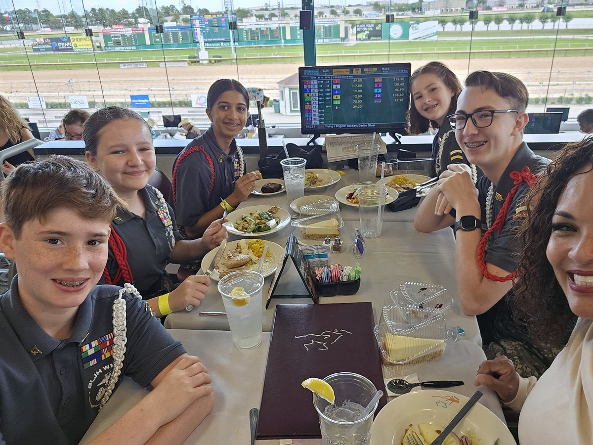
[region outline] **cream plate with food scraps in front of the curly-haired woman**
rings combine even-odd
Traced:
[[[423,389],[391,400],[375,417],[371,444],[408,445],[416,433],[430,445],[469,399],[447,390]],[[486,406],[476,403],[453,428],[444,445],[517,445],[511,431]]]

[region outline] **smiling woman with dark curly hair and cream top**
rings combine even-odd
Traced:
[[[567,145],[528,195],[515,317],[531,335],[568,344],[540,377],[506,357],[480,365],[476,384],[519,417],[521,445],[589,444],[593,437],[593,136]],[[575,325],[576,319],[576,325]],[[537,383],[537,384],[536,384]]]

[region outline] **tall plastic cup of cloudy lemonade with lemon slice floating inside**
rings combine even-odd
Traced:
[[[231,328],[239,349],[255,348],[262,342],[262,288],[264,278],[254,271],[238,271],[218,282]]]

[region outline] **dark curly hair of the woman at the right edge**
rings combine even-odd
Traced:
[[[525,199],[527,217],[519,230],[522,258],[514,284],[514,317],[531,334],[552,345],[562,344],[576,320],[546,249],[551,222],[566,184],[583,167],[593,164],[593,136],[566,145]]]

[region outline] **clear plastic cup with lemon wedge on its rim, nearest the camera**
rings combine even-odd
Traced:
[[[324,445],[368,444],[371,441],[373,413],[379,402],[364,418],[358,417],[377,393],[375,385],[366,377],[354,373],[331,374],[323,380],[330,384],[336,395],[333,405],[317,394],[313,395]]]

